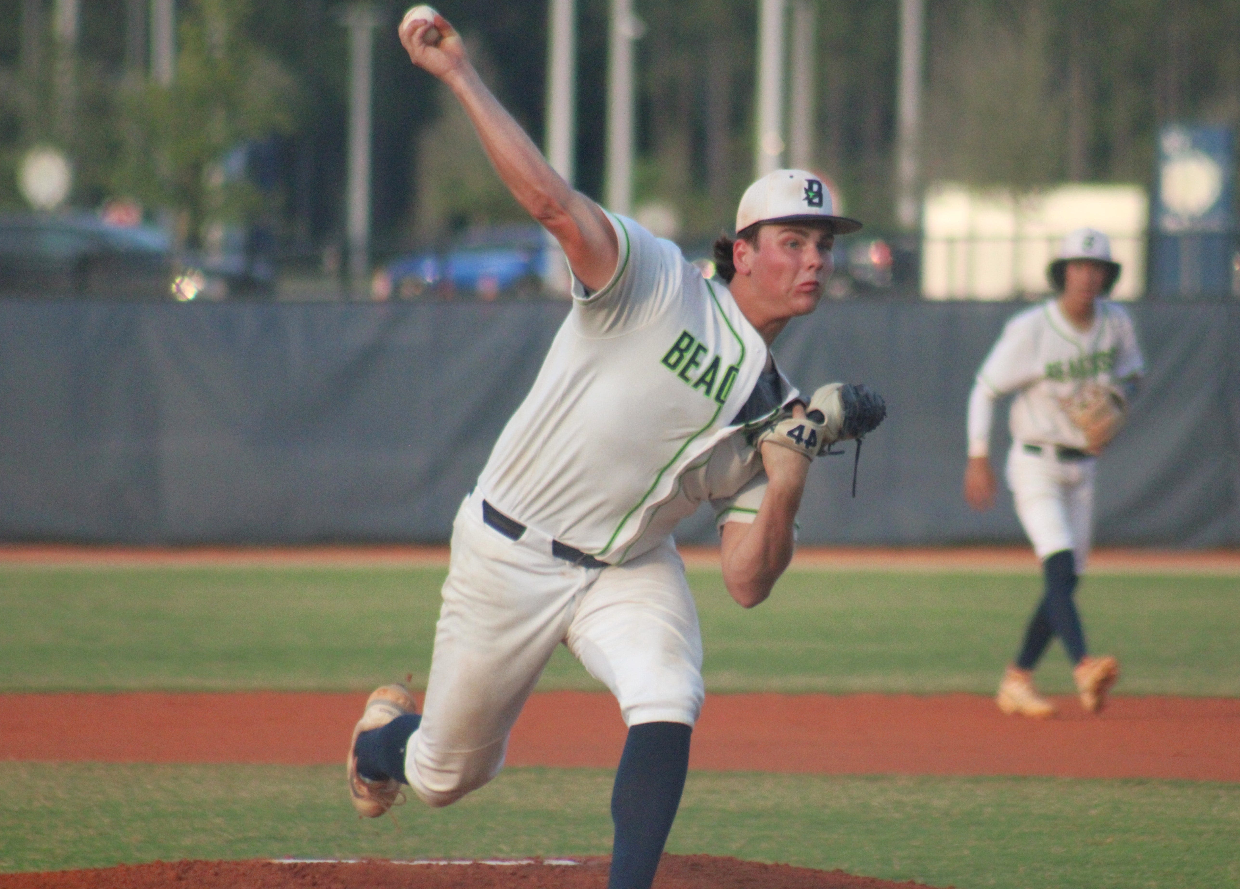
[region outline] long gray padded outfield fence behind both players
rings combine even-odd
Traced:
[[[802,543],[1022,539],[1011,498],[960,493],[972,376],[1021,308],[838,303],[789,327],[802,389],[866,381],[889,406],[856,499],[852,444],[812,469]],[[0,302],[0,540],[444,541],[565,310]],[[1131,310],[1148,375],[1100,464],[1099,541],[1240,545],[1240,305]],[[678,538],[713,541],[711,517]]]

